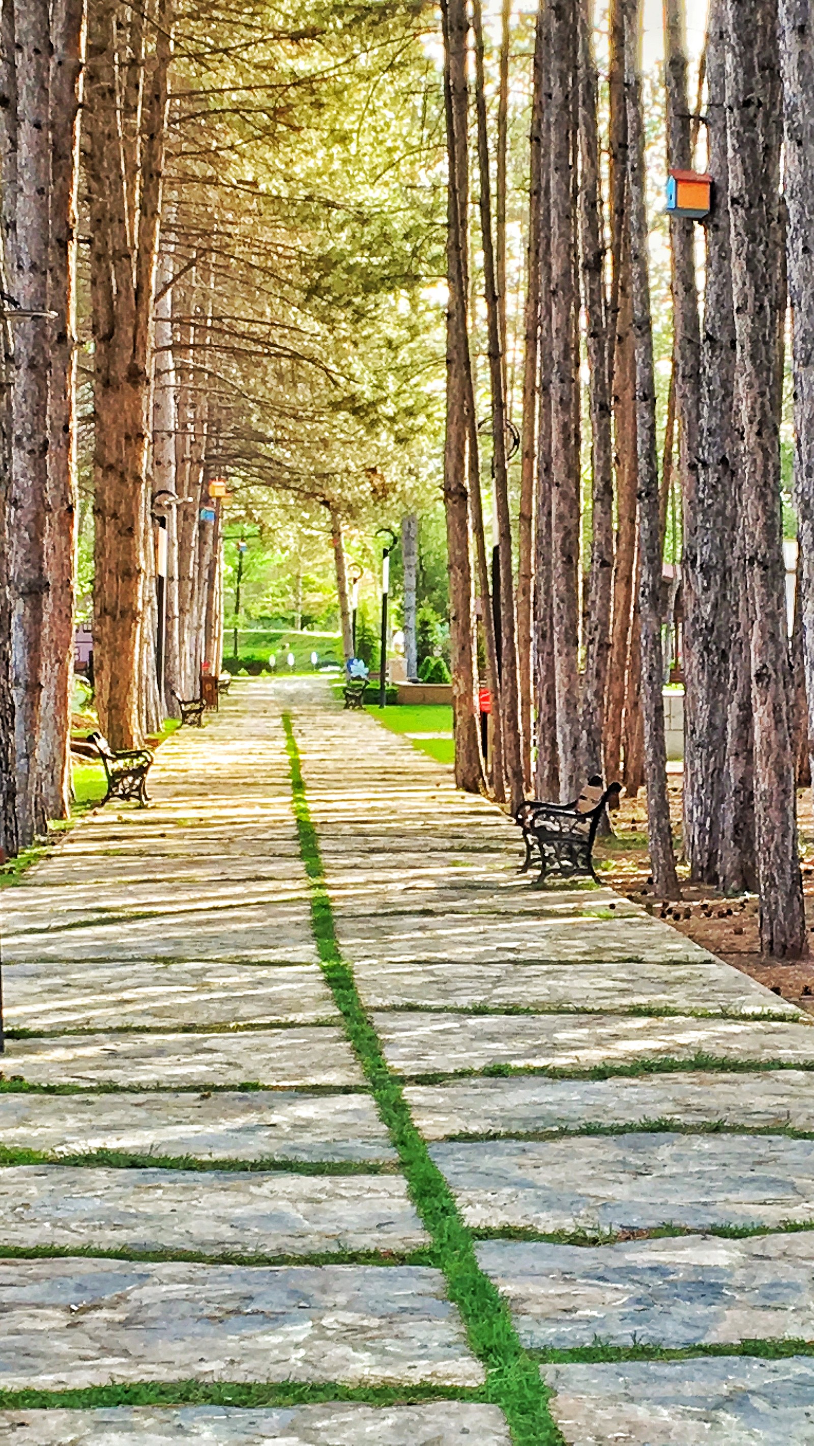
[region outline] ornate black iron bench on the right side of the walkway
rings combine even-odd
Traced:
[[[525,873],[531,868],[533,850],[537,849],[537,885],[554,869],[564,879],[590,878],[599,884],[593,872],[593,840],[609,800],[621,792],[621,784],[609,784],[603,791],[602,779],[595,775],[570,804],[548,804],[537,798],[521,804],[514,816],[525,840],[525,859],[520,872]]]

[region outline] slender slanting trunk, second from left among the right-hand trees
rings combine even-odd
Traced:
[[[504,363],[495,254],[492,239],[492,202],[489,181],[489,140],[486,130],[486,91],[483,67],[483,23],[481,0],[472,3],[475,30],[475,111],[478,117],[478,169],[481,182],[481,243],[483,247],[483,286],[489,334],[489,380],[492,396],[492,458],[494,487],[499,534],[501,578],[501,716],[502,745],[511,808],[520,808],[524,797],[522,739],[520,735],[520,693],[517,672],[517,623],[514,615],[512,536],[508,496],[507,408],[504,393]]]

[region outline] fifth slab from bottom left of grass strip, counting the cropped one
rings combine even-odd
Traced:
[[[238,1034],[65,1034],[7,1040],[7,1079],[32,1084],[361,1084],[343,1032],[332,1027]]]

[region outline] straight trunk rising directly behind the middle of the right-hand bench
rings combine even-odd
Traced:
[[[576,10],[551,4],[550,30],[550,228],[551,228],[551,615],[557,690],[561,798],[576,798],[580,778],[579,542],[580,469],[574,438],[579,356],[574,348],[574,134]],[[556,120],[554,120],[556,117]]]

